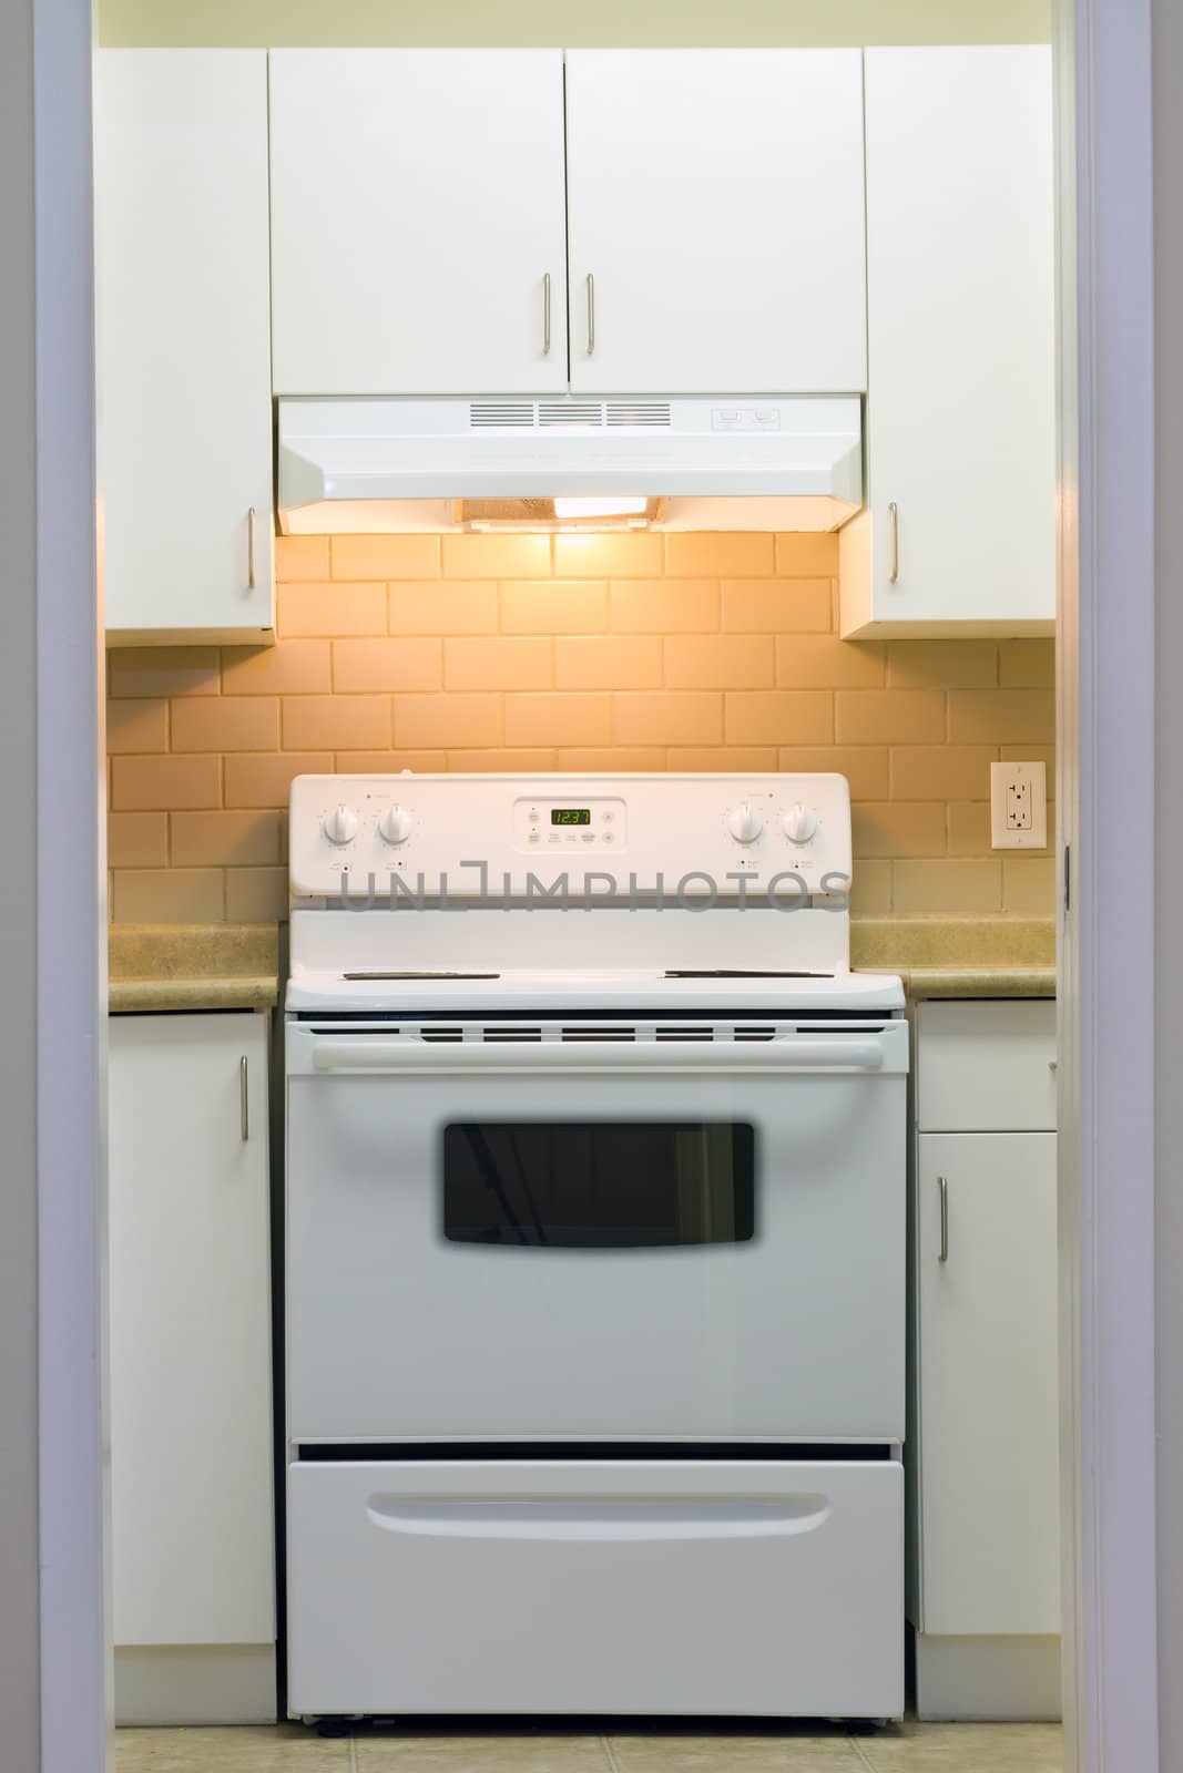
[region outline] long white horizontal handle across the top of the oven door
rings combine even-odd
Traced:
[[[459,1078],[482,1076],[605,1076],[607,1073],[647,1073],[685,1076],[686,1073],[784,1071],[881,1071],[883,1044],[876,1039],[834,1035],[823,1039],[780,1039],[766,1043],[722,1041],[571,1041],[532,1044],[509,1041],[474,1041],[472,1044],[433,1046],[413,1041],[328,1039],[312,1048],[314,1071],[390,1073],[404,1076]]]

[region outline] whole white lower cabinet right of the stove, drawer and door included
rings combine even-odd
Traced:
[[[1054,1009],[919,1012],[910,1613],[928,1718],[1059,1716]],[[997,1129],[1007,1105],[1018,1131]]]

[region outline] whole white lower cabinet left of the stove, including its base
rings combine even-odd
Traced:
[[[268,1016],[110,1021],[115,1718],[275,1700]]]

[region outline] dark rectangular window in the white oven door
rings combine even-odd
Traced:
[[[443,1129],[449,1243],[653,1250],[747,1243],[756,1133],[738,1121],[461,1121]]]

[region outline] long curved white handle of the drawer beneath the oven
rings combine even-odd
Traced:
[[[552,1498],[431,1498],[371,1496],[372,1527],[390,1534],[435,1539],[780,1539],[809,1534],[830,1514],[830,1498],[784,1496],[777,1502],[683,1500],[678,1496]]]

